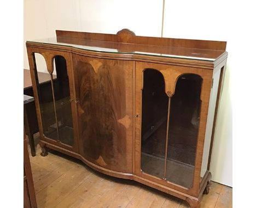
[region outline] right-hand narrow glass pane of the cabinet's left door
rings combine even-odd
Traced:
[[[54,63],[55,67],[53,74],[56,74],[56,78],[53,79],[53,89],[59,140],[61,143],[72,146],[74,143],[73,121],[71,102],[69,101],[71,97],[66,60],[62,56],[56,56],[54,58]],[[57,132],[54,132],[53,136],[57,137]]]

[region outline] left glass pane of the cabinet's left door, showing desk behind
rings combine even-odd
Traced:
[[[46,70],[46,62],[41,54],[34,53],[34,65],[43,133],[46,137],[57,140],[53,136],[57,133],[57,124],[54,113],[51,76]]]

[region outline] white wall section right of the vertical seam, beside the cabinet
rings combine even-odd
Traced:
[[[226,1],[165,0],[164,32],[166,38],[185,38],[227,41],[230,52],[224,74],[223,91],[220,96],[216,133],[213,144],[211,172],[212,180],[232,186],[232,102],[230,93],[230,62],[232,60],[233,30],[230,9]],[[225,18],[226,17],[226,18]],[[235,60],[234,60],[235,61]]]

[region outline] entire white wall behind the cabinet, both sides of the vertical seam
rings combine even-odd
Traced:
[[[212,180],[232,186],[232,102],[230,95],[231,21],[224,1],[166,0],[163,36],[228,41],[230,52],[220,97],[211,164]],[[153,0],[24,0],[24,46],[26,40],[55,36],[55,29],[117,33],[129,28],[137,35],[161,36],[162,1]],[[233,44],[233,45],[232,45]],[[24,68],[28,69],[24,47]]]

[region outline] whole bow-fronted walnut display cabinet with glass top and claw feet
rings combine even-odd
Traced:
[[[55,149],[199,205],[226,42],[56,30],[26,46],[42,156]]]

